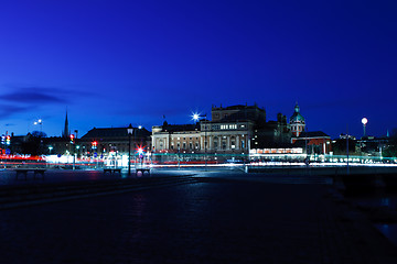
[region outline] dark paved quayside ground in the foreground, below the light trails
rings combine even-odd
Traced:
[[[395,245],[329,177],[203,168],[0,177],[2,190],[119,183],[1,209],[1,263],[397,263]]]

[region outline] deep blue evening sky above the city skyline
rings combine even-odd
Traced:
[[[396,1],[0,2],[0,130],[61,135],[265,107],[309,130],[397,127]]]

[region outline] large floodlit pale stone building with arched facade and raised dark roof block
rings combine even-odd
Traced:
[[[290,144],[287,118],[266,121],[265,109],[254,106],[213,106],[212,120],[196,124],[152,128],[154,153],[248,154],[251,147]]]

